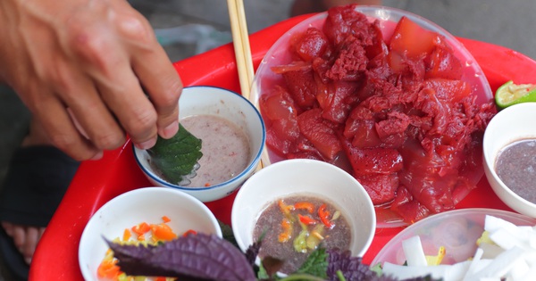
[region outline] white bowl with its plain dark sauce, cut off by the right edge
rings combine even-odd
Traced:
[[[536,103],[498,112],[483,140],[484,171],[498,197],[514,211],[536,218]]]

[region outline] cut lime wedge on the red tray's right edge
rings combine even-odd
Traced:
[[[508,81],[495,92],[495,103],[504,109],[515,103],[536,102],[536,84],[514,84]]]

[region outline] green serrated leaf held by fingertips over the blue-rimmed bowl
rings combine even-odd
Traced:
[[[155,146],[147,149],[151,161],[159,169],[163,178],[179,184],[190,175],[203,156],[202,141],[179,124],[179,131],[170,139],[158,136]]]

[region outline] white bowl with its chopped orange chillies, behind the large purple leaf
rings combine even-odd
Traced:
[[[113,252],[111,246],[170,247],[178,238],[188,239],[192,235],[222,237],[214,214],[193,196],[161,186],[120,194],[100,207],[82,232],[78,252],[82,276],[87,281],[161,280],[146,279],[141,276],[147,276],[147,271],[132,271],[129,263],[121,264],[117,259],[121,252]],[[135,252],[133,260],[139,260],[141,253]],[[150,262],[155,263],[137,262],[133,268],[150,269]]]

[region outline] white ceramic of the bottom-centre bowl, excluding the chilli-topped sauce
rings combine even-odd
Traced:
[[[349,249],[363,256],[373,241],[373,202],[356,178],[323,161],[286,160],[261,169],[240,188],[232,205],[231,224],[242,251],[253,244],[256,219],[270,203],[291,194],[308,194],[331,202],[348,220]]]

